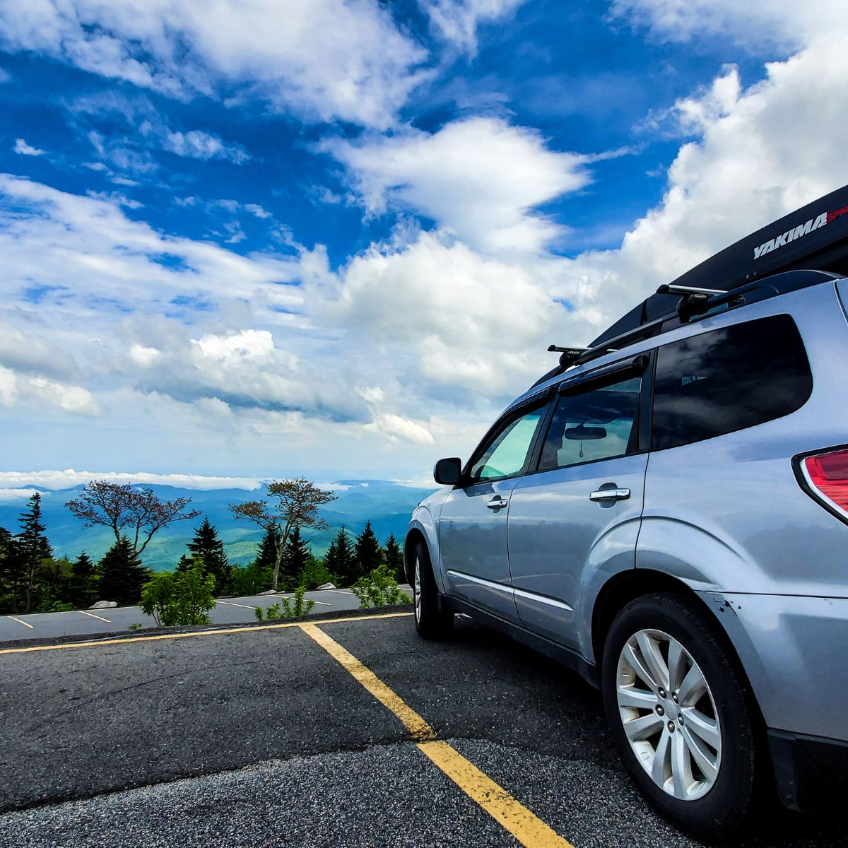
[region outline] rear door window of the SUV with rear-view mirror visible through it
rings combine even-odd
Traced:
[[[641,377],[561,395],[538,470],[623,456],[636,449]]]

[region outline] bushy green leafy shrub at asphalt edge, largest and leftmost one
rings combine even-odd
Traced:
[[[209,610],[215,606],[215,577],[204,570],[203,561],[176,575],[163,572],[145,583],[139,606],[161,627],[180,624],[209,624]]]

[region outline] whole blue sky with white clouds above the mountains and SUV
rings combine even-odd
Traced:
[[[848,181],[843,6],[3,3],[0,486],[467,454]]]

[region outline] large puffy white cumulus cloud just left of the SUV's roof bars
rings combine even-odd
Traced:
[[[548,291],[554,267],[553,260],[486,258],[422,232],[353,259],[309,308],[346,327],[355,347],[385,351],[393,376],[408,375],[399,387],[408,397],[432,401],[456,389],[502,397],[538,376],[540,340],[566,313]],[[365,392],[375,404],[388,393],[374,384]]]

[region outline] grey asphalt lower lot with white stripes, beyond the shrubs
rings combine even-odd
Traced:
[[[409,586],[402,586],[412,594]],[[291,598],[291,592],[247,595],[243,598],[220,598],[209,612],[213,624],[238,624],[256,621],[256,607],[267,609]],[[304,597],[315,601],[315,613],[355,610],[360,602],[350,589],[323,589],[307,592]],[[38,612],[26,615],[0,616],[0,643],[14,639],[50,639],[56,636],[88,636],[95,633],[115,633],[138,628],[155,628],[156,622],[137,606],[114,606],[104,610],[72,610],[67,612]]]

